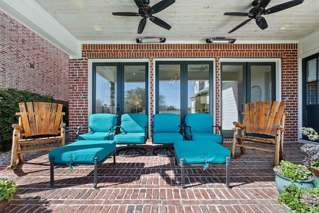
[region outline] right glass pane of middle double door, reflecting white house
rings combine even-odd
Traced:
[[[187,65],[187,114],[209,113],[209,64]]]

